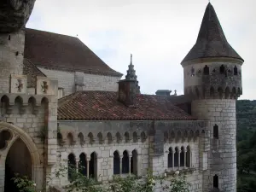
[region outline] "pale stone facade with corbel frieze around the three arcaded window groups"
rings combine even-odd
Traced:
[[[145,176],[148,168],[158,176],[177,170],[189,172],[191,191],[199,192],[203,191],[201,164],[205,162],[201,151],[205,150],[207,127],[207,121],[59,121],[61,139],[57,161],[67,166],[68,155],[73,154],[78,167],[80,154],[84,153],[86,160],[90,161],[90,154],[95,152],[96,179],[108,183],[113,177],[113,153],[117,151],[122,159],[126,150],[131,160],[132,151],[136,151],[137,176]],[[159,130],[157,139],[156,130]],[[158,146],[152,145],[156,141]],[[169,148],[188,146],[191,155],[189,167],[168,167]],[[129,173],[121,174],[122,177],[127,175]],[[68,177],[61,178],[61,185],[67,183]],[[157,185],[155,191],[159,190]]]

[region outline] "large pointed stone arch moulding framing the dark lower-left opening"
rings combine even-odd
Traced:
[[[23,131],[19,127],[6,123],[0,122],[0,131],[9,131],[12,134],[12,138],[9,140],[8,145],[6,148],[0,151],[1,158],[0,158],[0,174],[4,177],[5,176],[5,161],[7,155],[9,153],[9,149],[12,145],[20,139],[28,149],[31,155],[31,164],[32,164],[32,180],[37,183],[37,188],[40,189],[43,185],[43,181],[41,180],[44,177],[44,164],[43,160],[40,158],[40,154],[38,152],[38,148],[35,143],[32,141],[32,137],[30,137],[26,131]],[[0,181],[0,191],[4,189],[3,181]]]

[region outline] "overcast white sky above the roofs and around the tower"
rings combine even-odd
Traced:
[[[142,93],[183,94],[180,62],[195,44],[207,0],[37,0],[26,27],[79,38],[126,73],[133,55]],[[256,99],[256,2],[212,0],[231,46],[245,60],[243,99]]]

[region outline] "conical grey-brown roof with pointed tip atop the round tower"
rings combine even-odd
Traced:
[[[196,43],[184,61],[195,60],[206,57],[230,57],[243,61],[225,38],[223,29],[211,3],[208,3],[205,15],[201,22],[200,32]]]

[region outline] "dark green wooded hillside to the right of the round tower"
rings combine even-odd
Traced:
[[[237,192],[256,189],[256,101],[236,102]]]

